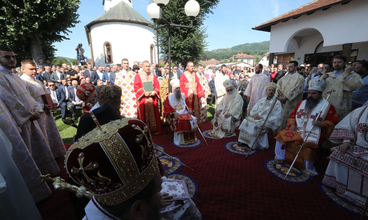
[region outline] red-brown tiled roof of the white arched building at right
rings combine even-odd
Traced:
[[[261,23],[260,25],[257,25],[253,27],[253,30],[262,30],[266,32],[271,31],[271,25],[275,25],[279,22],[287,21],[291,18],[296,19],[300,17],[301,15],[307,14],[310,15],[315,11],[318,10],[327,10],[328,8],[337,5],[337,4],[347,4],[351,0],[314,0],[311,1],[304,6],[300,6],[292,11],[286,12],[285,14],[279,15],[276,18],[273,18],[269,21],[266,21],[264,23]]]

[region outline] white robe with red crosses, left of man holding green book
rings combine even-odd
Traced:
[[[135,72],[124,69],[116,74],[115,85],[121,88],[121,115],[137,118],[137,98],[134,91]]]

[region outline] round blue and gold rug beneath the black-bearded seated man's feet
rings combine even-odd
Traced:
[[[266,161],[265,168],[280,180],[287,181],[289,183],[308,183],[313,179],[313,176],[309,176],[303,171],[293,167],[284,180],[287,171],[290,169],[290,165],[278,162],[275,159],[269,159]]]

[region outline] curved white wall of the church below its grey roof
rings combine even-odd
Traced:
[[[120,33],[111,34],[111,30]],[[107,34],[109,33],[109,34]],[[155,31],[152,27],[135,23],[107,22],[91,26],[91,38],[95,66],[121,63],[123,58],[134,61],[148,60],[151,62],[150,46],[154,44]],[[105,63],[104,43],[109,41],[112,47],[114,63]],[[157,60],[157,48],[153,54],[153,62]]]

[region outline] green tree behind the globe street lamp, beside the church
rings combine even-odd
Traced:
[[[207,14],[212,13],[219,0],[197,0],[201,7],[197,17],[193,19],[193,29],[183,27],[171,27],[171,62],[178,63],[181,60],[191,60],[197,63],[205,52],[207,43],[205,38],[206,28],[203,27],[203,21]],[[172,24],[190,25],[190,18],[185,15],[184,6],[187,1],[170,0],[163,7],[162,17]],[[162,21],[157,20],[156,25],[164,25]],[[162,28],[158,31],[158,45],[161,58],[168,59],[168,28]],[[156,39],[156,37],[155,37]],[[157,42],[156,42],[157,46]]]

